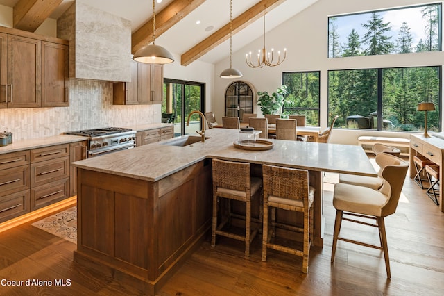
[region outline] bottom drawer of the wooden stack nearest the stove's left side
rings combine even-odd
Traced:
[[[69,197],[69,178],[31,188],[31,211]]]

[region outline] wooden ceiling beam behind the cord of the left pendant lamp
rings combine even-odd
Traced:
[[[156,38],[204,2],[205,0],[174,0],[169,3],[166,8],[155,15]],[[131,35],[131,53],[134,54],[137,50],[151,42],[153,42],[153,18]]]

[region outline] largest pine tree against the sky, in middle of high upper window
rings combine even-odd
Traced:
[[[362,42],[368,44],[364,51],[366,55],[390,54],[393,49],[393,43],[390,42],[391,36],[385,35],[391,30],[390,23],[383,23],[383,19],[377,13],[372,13],[371,19],[367,24],[361,24],[367,29]]]

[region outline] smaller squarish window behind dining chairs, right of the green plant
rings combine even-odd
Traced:
[[[319,72],[284,72],[282,84],[287,86],[283,113],[305,115],[307,125],[319,126]]]

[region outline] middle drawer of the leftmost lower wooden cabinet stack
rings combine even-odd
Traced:
[[[29,165],[0,170],[0,197],[29,189]]]

